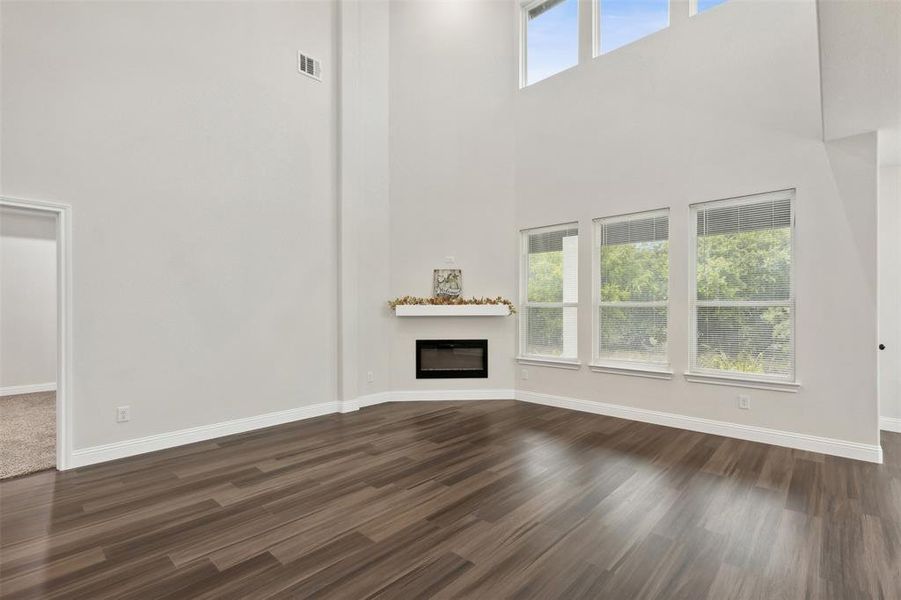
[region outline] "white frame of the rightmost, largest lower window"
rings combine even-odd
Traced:
[[[759,194],[748,194],[746,196],[735,196],[732,198],[723,198],[720,200],[708,200],[698,202],[689,206],[689,243],[688,243],[688,369],[685,377],[689,381],[701,383],[715,383],[720,385],[728,385],[730,382],[746,382],[760,383],[765,389],[785,389],[793,391],[793,388],[800,386],[798,383],[797,368],[797,323],[798,323],[798,299],[796,295],[795,278],[797,274],[797,194],[794,188],[778,190],[774,192],[763,192]],[[766,202],[773,200],[788,200],[791,211],[790,232],[789,232],[789,249],[791,252],[791,266],[789,268],[789,298],[786,301],[781,300],[698,300],[698,210],[710,206],[742,206],[754,204],[758,202]],[[791,317],[791,363],[788,375],[770,375],[766,373],[742,373],[740,371],[723,371],[719,369],[705,369],[698,367],[697,362],[697,343],[698,343],[698,308],[704,306],[736,306],[736,307],[754,307],[754,306],[788,306],[789,315]],[[753,387],[753,386],[752,386]]]

